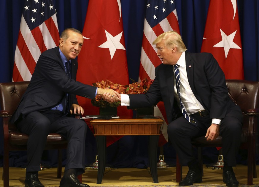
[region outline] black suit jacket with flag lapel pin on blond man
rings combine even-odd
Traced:
[[[185,60],[193,94],[209,112],[210,118],[239,116],[241,110],[229,98],[225,75],[212,54],[185,52]],[[155,68],[155,80],[148,92],[129,97],[130,108],[148,107],[163,101],[170,123],[179,113],[179,107],[174,102],[174,67],[159,65]]]

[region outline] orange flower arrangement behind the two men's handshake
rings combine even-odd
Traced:
[[[102,80],[101,82],[97,82],[97,83],[93,83],[93,86],[97,87],[97,88],[110,88],[113,89],[115,91],[117,91],[119,94],[144,94],[148,91],[148,89],[150,88],[150,85],[153,83],[154,80],[150,80],[148,78],[145,78],[143,80],[141,80],[140,83],[134,81],[133,79],[131,79],[132,83],[129,85],[120,85],[118,83],[113,83],[109,80]],[[101,96],[96,96],[95,99],[92,99],[91,101],[93,106],[96,107],[118,107],[120,106],[120,102],[114,102],[114,103],[109,103],[107,101],[104,101],[103,98]]]

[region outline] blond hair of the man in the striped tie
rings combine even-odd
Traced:
[[[178,52],[186,51],[185,44],[182,41],[182,37],[176,31],[168,31],[159,35],[154,41],[153,45],[157,43],[164,42],[166,47],[177,47]]]

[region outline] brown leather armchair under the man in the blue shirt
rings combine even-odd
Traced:
[[[3,180],[4,187],[9,186],[9,151],[27,150],[28,135],[17,130],[14,124],[9,122],[10,116],[18,106],[22,95],[30,81],[0,83],[0,117],[3,118],[4,128],[4,160],[3,160]],[[80,118],[80,116],[76,116]],[[62,155],[61,150],[66,149],[67,141],[58,133],[50,133],[47,136],[45,149],[58,149],[58,173],[57,178],[61,178]],[[82,180],[81,175],[78,176]]]

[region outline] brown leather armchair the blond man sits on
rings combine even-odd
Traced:
[[[256,128],[259,114],[259,82],[248,80],[226,80],[228,95],[233,102],[240,106],[243,117],[243,133],[241,135],[241,149],[248,150],[247,156],[247,185],[253,185],[253,178],[257,178],[255,163]],[[203,171],[201,147],[222,147],[222,137],[206,141],[204,136],[194,138],[193,146],[198,148],[198,160]],[[177,156],[176,181],[182,180],[182,166]]]

